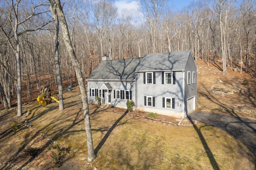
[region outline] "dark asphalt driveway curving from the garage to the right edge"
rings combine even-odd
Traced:
[[[246,144],[256,156],[256,120],[203,111],[193,111],[188,117],[228,132]]]

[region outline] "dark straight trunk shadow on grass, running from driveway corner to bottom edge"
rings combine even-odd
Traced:
[[[214,158],[214,155],[212,154],[212,151],[210,150],[210,148],[209,148],[209,146],[208,146],[206,140],[204,139],[204,136],[203,136],[203,134],[202,134],[202,132],[201,132],[201,130],[200,130],[201,127],[198,128],[198,127],[194,124],[194,122],[192,121],[192,119],[191,119],[189,116],[188,116],[188,119],[189,119],[190,123],[192,123],[194,129],[196,130],[196,132],[197,132],[197,134],[198,134],[198,136],[199,136],[199,138],[200,138],[200,140],[201,140],[201,142],[202,142],[202,144],[203,144],[203,146],[204,146],[204,150],[206,151],[206,154],[207,154],[207,156],[208,156],[208,158],[209,158],[209,160],[210,160],[210,162],[211,162],[211,164],[212,164],[212,168],[213,168],[214,170],[219,170],[220,168],[219,168],[219,166],[218,166],[218,163],[216,162],[216,160],[215,160],[215,158]]]

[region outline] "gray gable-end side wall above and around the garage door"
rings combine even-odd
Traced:
[[[196,68],[196,64],[194,62],[194,58],[192,56],[192,54],[190,53],[190,56],[188,58],[188,62],[186,64],[186,68],[185,68],[185,87],[184,87],[184,103],[185,103],[185,111],[186,111],[186,115],[188,115],[188,111],[187,111],[187,100],[191,97],[195,96],[195,107],[196,107],[196,94],[197,94],[197,68]],[[190,71],[190,84],[188,84],[188,71]],[[195,83],[193,83],[193,71],[196,74],[196,80]]]

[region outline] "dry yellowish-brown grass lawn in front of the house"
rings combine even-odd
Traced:
[[[177,126],[123,114],[118,108],[102,109],[90,105],[90,118],[97,158],[86,164],[86,133],[80,106],[79,89],[64,93],[65,109],[58,103],[24,109],[34,129],[21,127],[16,133],[8,124],[23,122],[15,112],[0,113],[0,169],[56,168],[47,158],[50,138],[60,146],[71,146],[63,160],[64,169],[253,169],[255,157],[250,150],[226,132],[204,124]],[[191,124],[191,123],[188,123]],[[53,142],[51,143],[53,144]],[[40,148],[38,156],[24,154]]]

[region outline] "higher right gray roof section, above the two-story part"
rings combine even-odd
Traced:
[[[191,51],[146,54],[136,71],[185,70]]]

